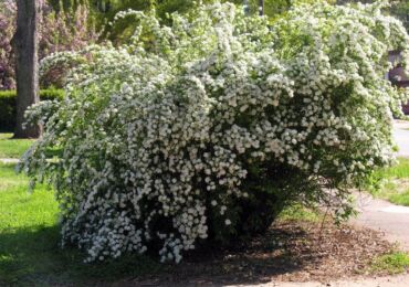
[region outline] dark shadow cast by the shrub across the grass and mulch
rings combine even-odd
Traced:
[[[313,226],[319,230],[317,224]],[[273,225],[264,236],[229,249],[212,246],[190,252],[178,265],[160,264],[156,255],[124,255],[85,264],[83,252],[60,247],[57,225],[0,231],[0,286],[220,286],[303,281],[310,279],[305,274],[312,269],[327,272],[328,255],[319,249],[316,235],[317,232],[302,224],[291,223]]]

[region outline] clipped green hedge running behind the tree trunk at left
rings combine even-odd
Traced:
[[[62,89],[42,89],[42,100],[61,99],[64,95]],[[0,131],[13,131],[15,126],[15,91],[0,91]]]

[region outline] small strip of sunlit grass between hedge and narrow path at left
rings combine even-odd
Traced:
[[[13,139],[13,134],[0,134],[0,158],[20,158],[34,139]]]

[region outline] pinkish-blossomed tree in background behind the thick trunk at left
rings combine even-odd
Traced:
[[[36,28],[39,61],[55,52],[77,51],[98,42],[101,33],[95,29],[92,14],[86,1],[63,9],[43,3]],[[15,59],[11,45],[15,23],[15,1],[0,2],[0,89],[15,89]],[[59,65],[45,74],[40,73],[40,88],[63,87],[65,70],[64,65]]]

